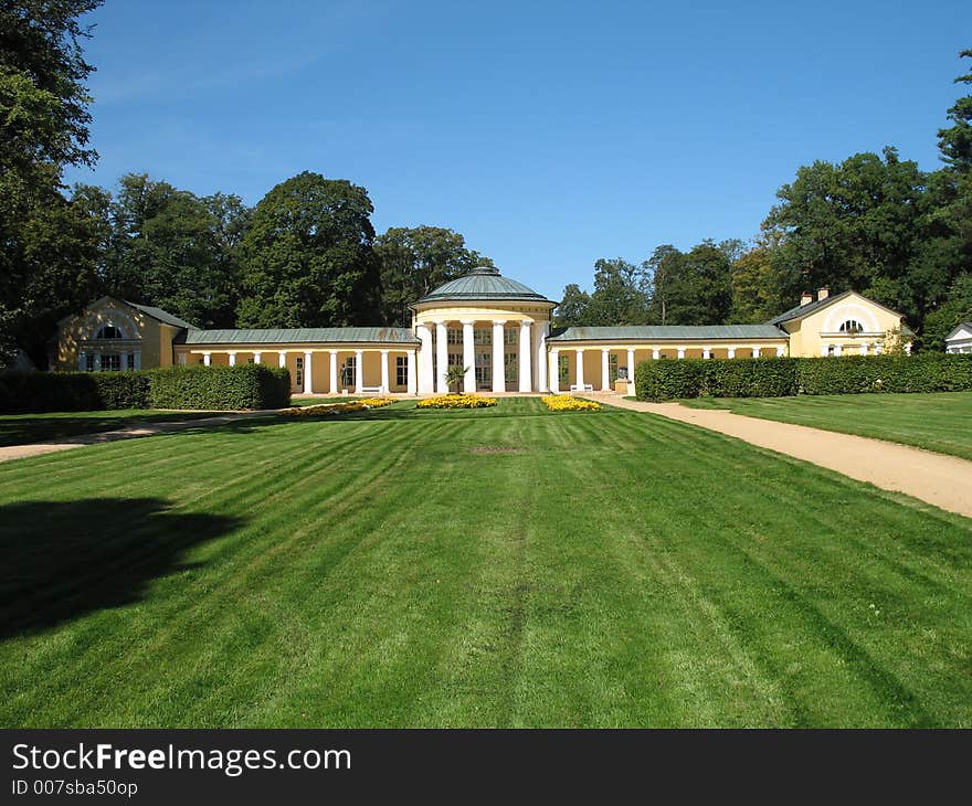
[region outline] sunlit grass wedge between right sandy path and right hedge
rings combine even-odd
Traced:
[[[972,392],[700,397],[694,409],[737,414],[915,445],[972,459]]]

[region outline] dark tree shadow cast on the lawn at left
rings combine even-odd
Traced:
[[[154,580],[194,566],[180,561],[187,549],[242,522],[158,498],[0,507],[0,638],[137,602]]]

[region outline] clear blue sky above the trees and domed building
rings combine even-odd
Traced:
[[[972,4],[107,0],[94,171],[251,204],[303,170],[559,298],[593,262],[750,238],[800,165],[939,166]]]

